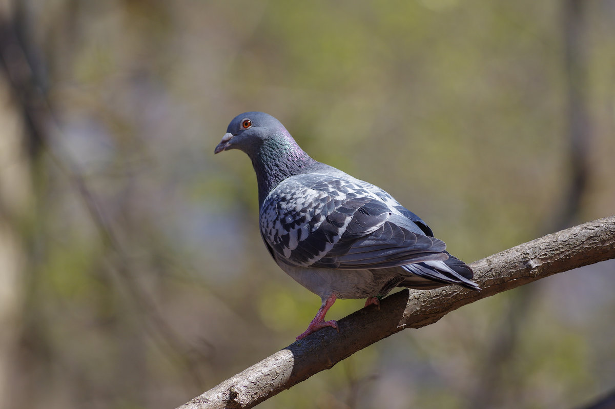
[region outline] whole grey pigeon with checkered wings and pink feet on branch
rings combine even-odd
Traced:
[[[232,119],[214,153],[244,151],[256,172],[260,232],[277,265],[322,304],[301,340],[325,327],[338,298],[375,304],[395,287],[480,290],[466,263],[419,216],[378,186],[317,162],[276,118]]]

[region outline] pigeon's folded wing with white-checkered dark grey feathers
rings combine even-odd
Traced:
[[[442,240],[392,213],[352,181],[310,173],[269,194],[260,227],[271,252],[294,266],[372,269],[446,259]]]

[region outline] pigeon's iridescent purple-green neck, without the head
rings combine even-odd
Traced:
[[[284,128],[269,137],[252,157],[258,182],[258,206],[263,205],[269,192],[288,177],[312,169],[314,161],[300,148]]]

